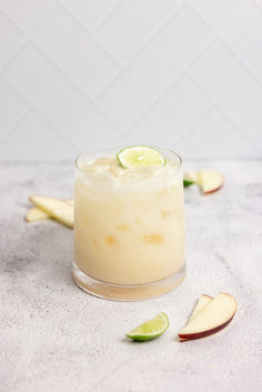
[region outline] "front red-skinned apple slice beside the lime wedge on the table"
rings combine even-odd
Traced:
[[[194,319],[189,321],[179,333],[179,338],[193,340],[219,332],[231,322],[236,309],[238,302],[232,295],[219,293]]]

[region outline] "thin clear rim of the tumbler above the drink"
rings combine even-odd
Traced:
[[[87,151],[84,151],[84,152],[81,152],[81,153],[74,159],[74,165],[75,165],[75,168],[77,168],[80,172],[88,174],[87,171],[83,170],[83,169],[80,167],[80,164],[79,164],[80,158],[87,157],[87,155],[89,155],[89,154],[92,153],[92,152],[99,152],[100,150],[111,149],[111,150],[115,150],[115,151],[121,151],[121,150],[127,149],[127,148],[129,148],[129,147],[135,147],[135,145],[138,145],[138,147],[139,147],[139,145],[141,145],[141,147],[150,147],[150,148],[152,148],[152,149],[159,151],[160,153],[162,153],[162,152],[164,152],[164,151],[168,152],[168,153],[171,153],[172,155],[177,157],[177,158],[178,158],[178,161],[179,161],[178,167],[174,168],[174,169],[175,169],[175,170],[180,170],[181,167],[182,167],[183,160],[182,160],[182,158],[180,157],[180,154],[179,154],[178,152],[174,152],[174,151],[172,151],[172,150],[170,150],[170,149],[167,149],[167,148],[162,148],[162,147],[158,147],[158,145],[152,145],[152,144],[133,144],[133,145],[125,145],[125,147],[124,147],[124,145],[113,145],[113,144],[100,145],[100,147],[97,147],[97,148],[93,148],[93,149],[89,149],[89,150],[87,150]],[[147,168],[147,167],[144,167],[144,168]],[[149,167],[149,168],[151,168],[151,167]],[[125,169],[125,170],[127,170],[127,169]],[[131,169],[131,170],[132,170],[132,169]],[[90,175],[90,174],[89,174],[89,175]],[[92,177],[92,174],[91,174],[91,177]]]

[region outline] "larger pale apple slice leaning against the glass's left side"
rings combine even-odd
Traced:
[[[60,223],[73,228],[73,208],[66,201],[39,195],[32,195],[29,200]]]

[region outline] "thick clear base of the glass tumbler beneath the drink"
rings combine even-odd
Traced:
[[[185,274],[184,265],[181,271],[158,282],[148,284],[114,284],[87,275],[73,263],[73,278],[82,290],[95,296],[114,301],[138,301],[158,296],[177,288],[182,283]]]

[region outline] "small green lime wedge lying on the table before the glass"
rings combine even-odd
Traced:
[[[168,328],[168,315],[161,312],[154,319],[145,321],[143,324],[127,333],[127,336],[133,340],[147,341],[160,336]]]

